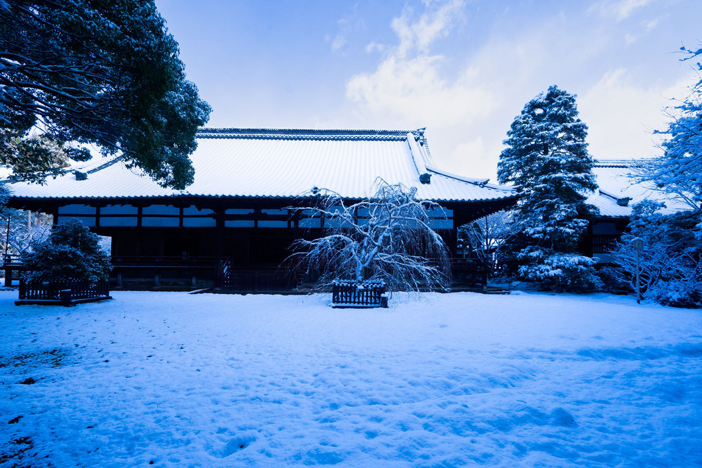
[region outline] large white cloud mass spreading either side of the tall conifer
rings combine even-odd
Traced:
[[[464,20],[461,12],[448,13],[455,4],[432,4],[432,11],[414,16],[404,10],[392,22],[397,43],[384,50],[377,44],[369,46],[369,51],[384,55],[376,69],[346,82],[347,104],[355,121],[380,128],[426,126],[439,167],[494,179],[502,141],[514,117],[524,103],[556,84],[578,95],[595,157],[656,152],[649,129],[665,124],[662,109],[673,96],[671,81],[642,79],[635,64],[623,65],[621,56],[612,53],[617,42],[623,46],[621,27],[604,29],[611,22],[600,18],[592,18],[592,25],[585,27],[579,18],[555,12],[529,27],[484,36],[470,51],[444,55],[444,49],[438,52],[437,39],[455,32]],[[618,15],[630,14],[643,3],[607,5],[618,7],[612,13]],[[636,42],[633,48],[640,47],[642,38],[657,26],[656,20],[639,22],[636,35],[625,39]],[[601,64],[607,60],[616,63],[614,67],[630,67],[631,76],[624,68],[605,73]]]

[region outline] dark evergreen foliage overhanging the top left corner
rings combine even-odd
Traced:
[[[15,175],[61,173],[91,143],[183,189],[209,112],[154,0],[0,0],[0,164]]]

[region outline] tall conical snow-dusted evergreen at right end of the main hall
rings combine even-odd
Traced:
[[[527,102],[508,131],[498,180],[518,185],[515,218],[524,226],[519,275],[543,288],[600,286],[595,260],[577,253],[578,240],[597,213],[585,194],[597,189],[575,96],[556,86]]]

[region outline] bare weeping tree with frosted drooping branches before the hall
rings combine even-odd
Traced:
[[[324,192],[316,206],[295,208],[324,222],[324,236],[298,239],[289,258],[318,285],[336,280],[383,281],[389,290],[445,289],[449,256],[444,240],[430,227],[443,213],[432,201],[416,199],[417,189],[380,180],[373,196],[357,203]]]

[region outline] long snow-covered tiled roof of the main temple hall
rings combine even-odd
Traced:
[[[117,159],[48,179],[14,182],[14,198],[134,198],[162,196],[293,197],[329,189],[368,196],[377,178],[417,187],[420,199],[477,201],[515,196],[511,187],[440,171],[423,129],[416,131],[202,128],[190,156],[195,180],[185,190],[160,187]],[[423,175],[428,174],[428,175]],[[429,179],[430,183],[420,182]]]

